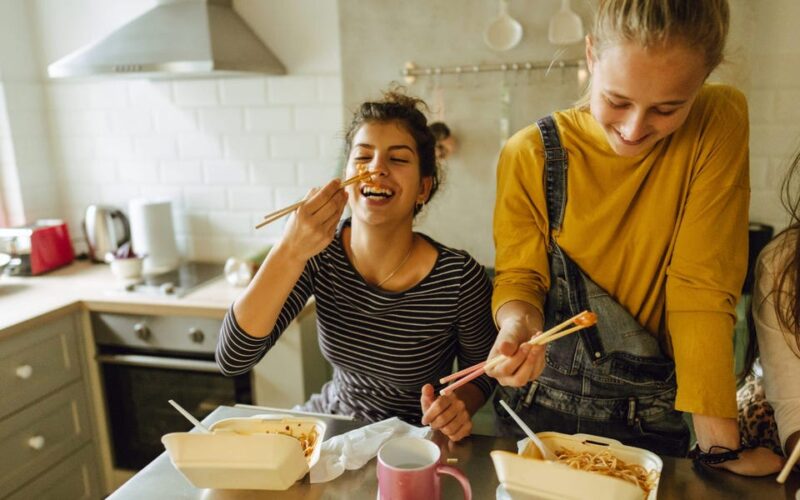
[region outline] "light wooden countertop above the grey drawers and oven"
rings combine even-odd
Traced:
[[[107,264],[87,261],[40,276],[0,276],[0,338],[82,305],[92,311],[221,319],[242,290],[220,276],[180,298],[130,293]]]

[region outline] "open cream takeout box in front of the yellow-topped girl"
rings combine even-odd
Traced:
[[[638,464],[648,471],[656,471],[659,478],[664,466],[655,453],[625,446],[613,439],[591,434],[570,435],[558,432],[538,432],[536,435],[553,452],[561,448],[593,453],[607,450],[628,464]],[[523,441],[521,449],[519,454],[500,450],[491,453],[497,478],[512,499],[656,499],[658,479],[650,494],[645,497],[644,490],[623,479],[543,460],[539,449],[530,439]]]

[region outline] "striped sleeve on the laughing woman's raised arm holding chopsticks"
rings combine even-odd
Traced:
[[[224,375],[234,376],[246,373],[261,361],[267,351],[272,349],[289,323],[303,310],[308,298],[313,293],[312,276],[316,267],[317,263],[314,259],[306,264],[303,273],[283,304],[274,328],[265,337],[254,337],[244,331],[236,321],[233,306],[228,309],[222,321],[215,353],[217,366]]]

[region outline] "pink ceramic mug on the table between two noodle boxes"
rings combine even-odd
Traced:
[[[441,498],[439,475],[453,476],[472,500],[472,488],[464,474],[439,463],[441,451],[431,441],[401,437],[388,441],[378,451],[378,499],[420,500]]]

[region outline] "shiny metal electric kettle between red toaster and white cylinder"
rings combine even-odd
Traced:
[[[86,209],[83,233],[89,245],[89,257],[95,262],[111,262],[117,248],[131,239],[125,214],[118,208],[103,205],[89,205]]]

